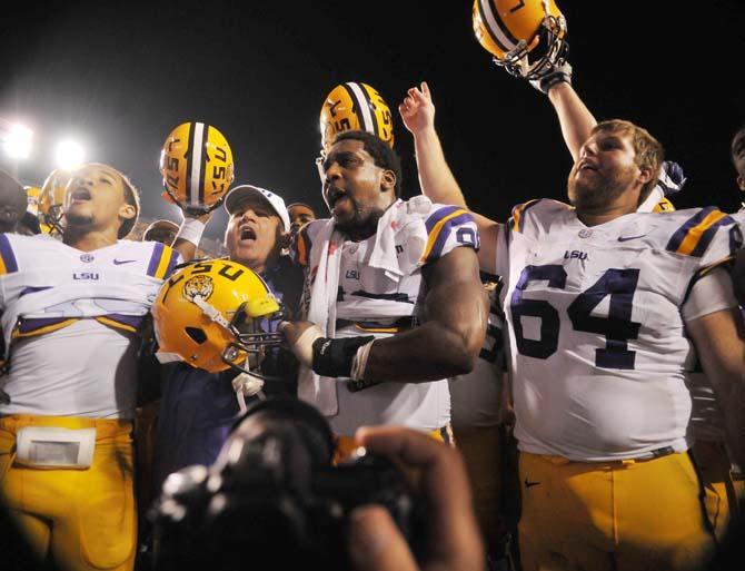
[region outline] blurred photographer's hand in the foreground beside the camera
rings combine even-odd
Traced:
[[[419,567],[385,508],[358,508],[351,515],[348,542],[354,570],[483,570],[484,545],[459,454],[426,434],[398,426],[360,429],[357,440],[371,452],[420,471],[420,492],[429,502],[433,530],[429,557]]]

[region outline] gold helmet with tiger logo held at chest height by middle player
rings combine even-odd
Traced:
[[[248,373],[265,347],[282,338],[262,327],[264,319],[281,317],[277,299],[256,273],[228,259],[173,274],[158,293],[152,317],[161,362],[185,361],[210,373]]]

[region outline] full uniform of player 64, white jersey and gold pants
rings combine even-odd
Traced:
[[[514,210],[497,273],[526,570],[685,569],[712,547],[685,453],[685,323],[735,304],[715,269],[732,259],[733,228],[716,208],[593,227],[555,200]]]

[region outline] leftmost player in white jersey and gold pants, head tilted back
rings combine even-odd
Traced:
[[[66,569],[135,559],[138,331],[179,260],[121,239],[139,208],[127,177],[89,164],[67,187],[62,242],[0,235],[0,488],[40,557]]]

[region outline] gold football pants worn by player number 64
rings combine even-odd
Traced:
[[[702,564],[714,548],[686,453],[570,462],[520,452],[524,571],[663,571]]]

